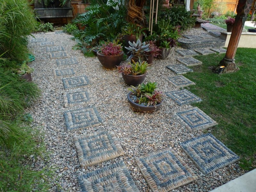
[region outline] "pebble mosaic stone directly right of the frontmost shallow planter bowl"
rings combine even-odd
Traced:
[[[166,92],[166,96],[170,97],[178,105],[189,105],[191,103],[199,103],[202,101],[200,97],[197,97],[187,89]]]

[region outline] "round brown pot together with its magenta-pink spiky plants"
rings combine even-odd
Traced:
[[[105,68],[114,68],[115,66],[120,65],[123,60],[124,52],[122,51],[121,44],[110,42],[100,46],[97,56],[100,63]]]

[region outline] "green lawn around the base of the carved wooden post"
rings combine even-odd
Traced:
[[[224,56],[196,56],[203,64],[184,76],[196,83],[188,90],[203,100],[194,106],[219,124],[212,134],[241,157],[243,169],[250,170],[256,165],[256,49],[238,48],[239,71],[212,73],[208,67],[218,65]]]

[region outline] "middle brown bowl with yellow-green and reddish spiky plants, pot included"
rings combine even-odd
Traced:
[[[141,84],[146,75],[148,70],[148,63],[147,61],[129,62],[128,64],[123,64],[117,66],[118,72],[122,74],[124,82],[127,85],[138,86]]]

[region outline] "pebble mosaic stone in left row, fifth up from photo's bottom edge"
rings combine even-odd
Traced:
[[[62,79],[64,89],[84,87],[89,84],[87,76],[75,76]]]

